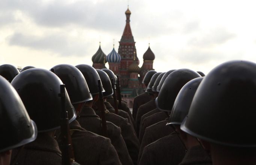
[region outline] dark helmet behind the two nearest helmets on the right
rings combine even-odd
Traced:
[[[171,111],[179,90],[190,80],[201,77],[190,69],[178,69],[169,74],[164,81],[155,103],[163,111]]]

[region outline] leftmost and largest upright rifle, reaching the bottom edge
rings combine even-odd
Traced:
[[[69,132],[68,111],[66,111],[65,84],[60,85],[59,97],[62,106],[62,111],[60,112],[60,149],[62,153],[62,165],[72,165],[74,162],[74,152],[72,150]]]

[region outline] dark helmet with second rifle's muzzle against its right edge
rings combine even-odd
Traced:
[[[82,72],[82,74],[84,75],[84,78],[87,82],[90,93],[92,95],[98,94],[99,93],[98,80],[101,80],[98,72],[92,66],[87,65],[87,64],[80,64],[75,67],[77,67],[77,69],[79,69]],[[101,91],[102,92],[105,91],[104,88],[102,87],[102,84],[101,84]]]

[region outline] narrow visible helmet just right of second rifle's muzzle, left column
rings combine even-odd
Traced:
[[[100,69],[96,69],[96,71],[98,72],[99,77],[101,78],[102,86],[105,89],[105,92],[102,93],[103,97],[112,96],[113,89],[107,73]]]

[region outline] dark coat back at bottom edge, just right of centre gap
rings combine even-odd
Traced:
[[[170,134],[146,146],[139,165],[178,165],[184,155],[184,145],[176,134]]]

